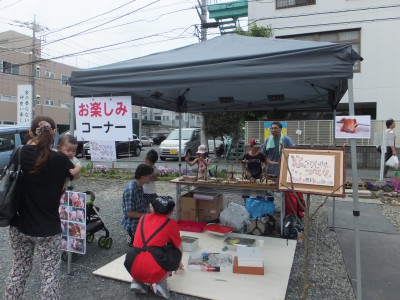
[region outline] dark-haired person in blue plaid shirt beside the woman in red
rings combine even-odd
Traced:
[[[135,179],[125,188],[122,195],[122,226],[128,233],[127,244],[132,247],[139,218],[150,212],[144,200],[143,185],[153,180],[153,168],[140,164],[135,171]]]

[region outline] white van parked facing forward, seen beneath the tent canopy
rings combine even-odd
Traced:
[[[179,154],[182,158],[195,156],[197,148],[200,146],[200,128],[182,128],[181,130],[181,150],[179,151],[179,129],[174,129],[160,144],[159,155],[161,160],[179,158]],[[215,140],[216,147],[221,143],[221,140]],[[207,147],[209,153],[214,153],[213,139],[208,139]]]

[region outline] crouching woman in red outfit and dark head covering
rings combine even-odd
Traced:
[[[142,227],[144,238],[147,241],[149,237],[166,222],[175,207],[175,202],[172,198],[168,199],[166,197],[158,197],[152,201],[151,204],[154,212],[142,216],[139,221],[136,230],[137,234],[135,234],[135,239],[133,241],[133,246],[136,248],[143,248],[144,246],[141,235]],[[144,218],[144,220],[142,220],[142,218]],[[167,243],[171,243],[181,252],[183,251],[182,239],[180,237],[178,224],[175,220],[170,220],[153,238],[149,240],[147,246],[163,247]],[[179,264],[179,270],[183,270],[182,263]],[[169,290],[166,281],[168,276],[171,275],[171,272],[160,267],[149,251],[142,251],[137,254],[130,273],[133,277],[131,289],[135,291],[135,293],[147,293],[148,288],[143,284],[145,283],[151,285],[154,293],[157,295],[164,298],[169,297]]]

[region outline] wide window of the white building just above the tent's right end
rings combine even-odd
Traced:
[[[317,32],[303,35],[292,35],[292,36],[282,36],[279,38],[285,39],[296,39],[303,41],[317,41],[317,42],[331,42],[331,43],[344,43],[351,44],[353,50],[361,55],[361,30],[342,30],[342,31],[329,31],[329,32]],[[360,61],[354,64],[353,71],[360,72],[361,65]]]

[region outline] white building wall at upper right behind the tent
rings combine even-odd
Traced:
[[[364,61],[354,67],[356,115],[398,119],[399,0],[248,1],[249,24],[271,25],[276,38],[351,43]],[[346,111],[348,93],[338,111]]]

